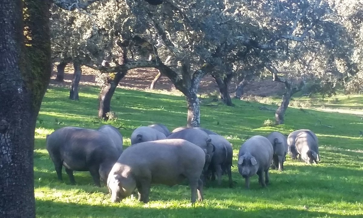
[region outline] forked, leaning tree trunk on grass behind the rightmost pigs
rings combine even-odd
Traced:
[[[302,80],[298,86],[293,87],[292,81],[278,77],[278,75],[277,75],[278,71],[275,67],[271,66],[270,64],[266,64],[266,68],[272,73],[273,81],[282,82],[285,84],[286,91],[282,95],[281,104],[275,112],[276,124],[284,124],[285,112],[286,112],[287,107],[289,107],[291,96],[293,96],[293,94],[295,94],[296,92],[298,92],[302,89],[302,87],[305,85],[305,81]]]

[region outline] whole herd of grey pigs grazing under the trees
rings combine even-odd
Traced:
[[[179,127],[170,132],[162,124],[136,128],[131,146],[123,151],[123,137],[113,126],[97,130],[63,127],[46,137],[46,149],[57,176],[62,180],[62,167],[75,184],[73,171],[89,171],[95,185],[106,182],[112,202],[119,202],[138,190],[139,201],[149,201],[151,184],[176,185],[187,181],[191,202],[203,200],[207,180],[221,185],[221,176],[228,175],[232,188],[232,145],[227,139],[205,128]],[[306,163],[320,161],[318,138],[308,129],[256,135],[243,143],[238,152],[238,172],[249,188],[250,177],[257,174],[265,187],[269,169],[284,170],[286,154]]]

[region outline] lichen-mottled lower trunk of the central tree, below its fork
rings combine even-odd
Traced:
[[[191,89],[189,93],[185,95],[187,99],[188,117],[187,127],[199,127],[200,126],[200,103],[197,93]]]

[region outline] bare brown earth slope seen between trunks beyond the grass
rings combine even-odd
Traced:
[[[53,85],[70,86],[73,78],[73,65],[68,64],[66,66],[63,83],[58,83],[54,80],[56,78],[56,66],[57,65],[54,66],[50,83]],[[97,86],[97,83],[95,83],[95,77],[97,74],[97,70],[82,66],[82,77],[79,84]],[[119,83],[119,87],[138,90],[149,89],[150,84],[155,78],[156,74],[158,74],[158,71],[156,69],[130,70],[130,72]],[[158,83],[155,85],[155,89],[171,91],[174,90],[175,87],[167,77],[161,77]],[[235,89],[236,85],[234,81],[232,81],[229,87],[229,92],[231,93],[231,96],[233,96]],[[211,76],[205,76],[200,82],[199,93],[209,94],[216,91],[218,91],[217,83]],[[273,82],[272,80],[254,81],[245,87],[245,93],[247,95],[270,96],[282,94],[283,91],[284,85],[282,83]]]

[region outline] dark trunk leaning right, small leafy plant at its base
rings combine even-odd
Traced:
[[[111,110],[111,99],[115,90],[118,86],[118,83],[122,78],[125,77],[127,71],[122,73],[116,73],[114,79],[110,79],[107,81],[107,84],[101,88],[101,92],[99,93],[99,107],[98,107],[98,118],[108,120],[107,113]]]

